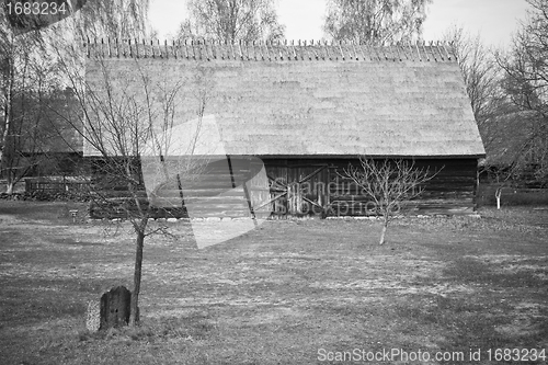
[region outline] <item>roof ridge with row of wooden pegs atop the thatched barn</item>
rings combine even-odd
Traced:
[[[456,61],[453,44],[447,42],[397,42],[374,45],[361,42],[236,42],[110,38],[84,41],[88,57],[158,58],[187,60],[372,60],[372,61]]]

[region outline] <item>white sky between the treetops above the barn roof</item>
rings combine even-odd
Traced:
[[[326,0],[277,0],[279,21],[287,39],[320,39]],[[434,0],[424,23],[424,39],[438,41],[452,25],[472,35],[480,33],[487,45],[507,46],[518,22],[525,20],[525,0]],[[150,22],[159,37],[174,34],[187,16],[185,0],[151,0]]]

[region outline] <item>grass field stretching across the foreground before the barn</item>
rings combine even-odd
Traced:
[[[266,221],[204,250],[171,224],[175,238],[145,242],[141,326],[92,334],[87,303],[132,288],[134,246],[126,225],[72,223],[75,207],[0,201],[0,364],[340,364],[383,351],[395,356],[366,363],[510,364],[516,353],[498,349],[530,360],[548,347],[548,209],[399,219],[385,247],[377,221]]]

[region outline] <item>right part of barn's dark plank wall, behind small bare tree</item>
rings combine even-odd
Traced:
[[[410,160],[411,161],[411,160]],[[327,160],[264,160],[269,175],[284,176],[289,182],[298,181],[318,166],[327,164],[324,172],[310,180],[312,185],[307,197],[320,199],[331,206],[329,215],[362,216],[374,214],[374,204],[358,186],[341,178],[343,169],[358,166],[357,159]],[[477,186],[476,159],[421,159],[415,160],[419,169],[429,169],[436,176],[424,184],[423,194],[402,207],[404,214],[470,214],[475,210]],[[288,210],[286,207],[285,210]],[[308,209],[312,210],[311,208]],[[278,207],[278,212],[284,208]]]

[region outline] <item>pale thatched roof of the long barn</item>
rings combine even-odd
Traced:
[[[229,155],[484,155],[458,64],[444,45],[88,48],[87,80],[98,90],[101,65],[113,85],[139,100],[138,72],[161,88],[181,83],[179,124],[196,118],[190,95],[207,90],[205,114],[215,117]]]

